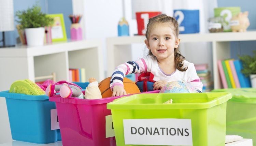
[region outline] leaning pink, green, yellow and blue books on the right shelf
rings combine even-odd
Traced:
[[[249,77],[241,72],[243,64],[240,60],[218,60],[218,70],[223,88],[250,88]]]

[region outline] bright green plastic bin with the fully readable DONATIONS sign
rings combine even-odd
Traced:
[[[171,99],[172,104],[165,103]],[[226,102],[229,99],[231,99],[230,93],[142,93],[116,99],[107,104],[107,109],[110,109],[112,113],[117,146],[124,146],[126,143],[124,121],[127,119],[152,121],[189,119],[191,120],[193,146],[225,146]],[[138,129],[139,132],[143,131]],[[171,141],[173,137],[170,134],[168,136],[170,139],[167,141]],[[140,141],[140,138],[138,135],[135,139]],[[159,138],[154,138],[152,136],[147,140],[159,140]],[[125,146],[137,145],[139,144]]]

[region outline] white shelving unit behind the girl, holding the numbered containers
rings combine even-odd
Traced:
[[[222,33],[195,33],[180,34],[181,43],[211,42],[214,89],[221,88],[221,80],[218,73],[217,60],[230,58],[231,41],[256,40],[256,31],[247,32],[222,32]],[[131,60],[131,44],[144,43],[145,36],[123,36],[107,38],[107,75],[111,76],[114,68]],[[182,49],[182,47],[181,47]],[[208,49],[208,48],[205,48]]]

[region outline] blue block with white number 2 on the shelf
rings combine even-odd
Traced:
[[[199,32],[199,10],[174,10],[173,14],[180,25],[180,33]]]

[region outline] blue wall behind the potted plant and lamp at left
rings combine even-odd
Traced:
[[[62,13],[65,20],[66,26],[66,33],[67,37],[70,38],[70,25],[71,22],[68,18],[68,15],[73,13],[72,10],[72,0],[13,0],[13,8],[14,8],[14,15],[16,11],[23,11],[26,10],[28,7],[32,7],[33,4],[37,3],[41,7],[42,12],[46,12],[46,5],[48,3],[48,14],[57,14]],[[16,20],[17,17],[14,17]],[[15,30],[14,31],[6,31],[5,32],[5,45],[15,45],[16,38],[19,37],[17,29],[16,29],[17,22],[14,21]],[[2,32],[0,33],[0,40],[2,40]],[[2,46],[2,43],[0,43]]]

